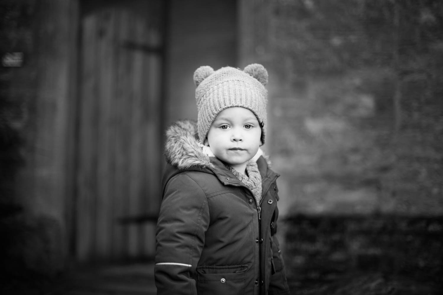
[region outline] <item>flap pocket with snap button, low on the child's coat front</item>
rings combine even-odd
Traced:
[[[247,264],[198,266],[196,269],[198,294],[244,294],[247,268]]]

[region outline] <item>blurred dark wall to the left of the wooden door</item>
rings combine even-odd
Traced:
[[[4,280],[65,265],[64,146],[75,2],[0,4],[0,232]],[[44,12],[44,13],[43,13]],[[14,58],[16,62],[11,63]],[[63,111],[66,110],[66,113]],[[60,127],[57,129],[57,127]]]

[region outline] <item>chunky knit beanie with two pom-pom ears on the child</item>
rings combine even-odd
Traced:
[[[208,65],[194,72],[197,100],[198,138],[204,142],[215,117],[228,107],[245,107],[252,111],[261,127],[261,142],[266,134],[266,103],[268,71],[263,65],[252,64],[242,71],[224,67],[214,71]]]

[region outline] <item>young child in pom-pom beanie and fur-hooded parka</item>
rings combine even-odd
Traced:
[[[167,130],[156,232],[157,294],[289,294],[276,239],[276,179],[262,65],[194,73],[198,121]]]

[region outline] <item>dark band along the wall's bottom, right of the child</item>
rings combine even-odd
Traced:
[[[286,266],[295,294],[443,294],[443,218],[295,216]]]

